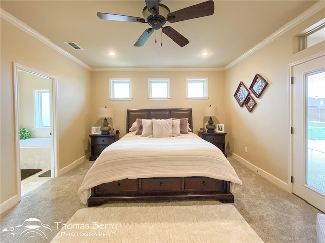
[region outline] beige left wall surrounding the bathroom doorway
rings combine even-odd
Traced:
[[[57,77],[58,168],[89,153],[90,71],[1,19],[0,204],[17,195],[13,62]]]

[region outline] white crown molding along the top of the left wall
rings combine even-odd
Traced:
[[[0,17],[4,20],[7,20],[9,23],[15,25],[16,27],[20,28],[21,30],[25,31],[27,34],[37,38],[39,41],[43,42],[44,44],[48,45],[49,47],[53,48],[55,51],[61,53],[62,55],[68,57],[69,59],[73,60],[74,62],[78,63],[79,65],[83,66],[88,70],[92,70],[90,66],[76,58],[75,56],[71,55],[69,52],[65,51],[64,49],[60,48],[53,42],[51,42],[48,38],[37,32],[35,29],[29,27],[27,24],[23,23],[16,17],[12,16],[2,8],[0,8]]]

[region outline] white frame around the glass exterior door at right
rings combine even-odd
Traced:
[[[291,132],[291,128],[293,128],[293,115],[294,115],[294,103],[293,103],[293,84],[295,83],[295,80],[292,80],[292,77],[293,77],[293,72],[294,72],[294,67],[297,66],[297,65],[300,65],[302,63],[305,63],[305,62],[309,62],[311,60],[314,60],[314,59],[317,59],[317,58],[320,58],[322,56],[325,55],[325,51],[321,51],[321,52],[318,52],[316,54],[313,54],[313,55],[310,55],[308,57],[305,57],[299,61],[296,61],[296,62],[293,62],[293,63],[290,63],[289,64],[289,123],[290,123],[290,129],[288,129],[289,131],[289,163],[288,163],[288,182],[291,181],[291,193],[294,193],[294,137],[293,137],[293,133]]]

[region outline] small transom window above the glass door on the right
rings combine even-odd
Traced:
[[[300,36],[300,49],[306,49],[325,41],[325,23]]]

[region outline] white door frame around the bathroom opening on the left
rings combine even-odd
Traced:
[[[14,77],[14,117],[15,117],[15,152],[16,152],[16,178],[17,196],[21,200],[21,178],[20,178],[20,146],[19,146],[19,93],[18,93],[18,71],[22,70],[39,76],[49,78],[49,89],[52,99],[50,99],[50,136],[51,141],[51,178],[58,175],[58,139],[57,139],[57,77],[42,71],[30,68],[19,63],[13,62]]]

